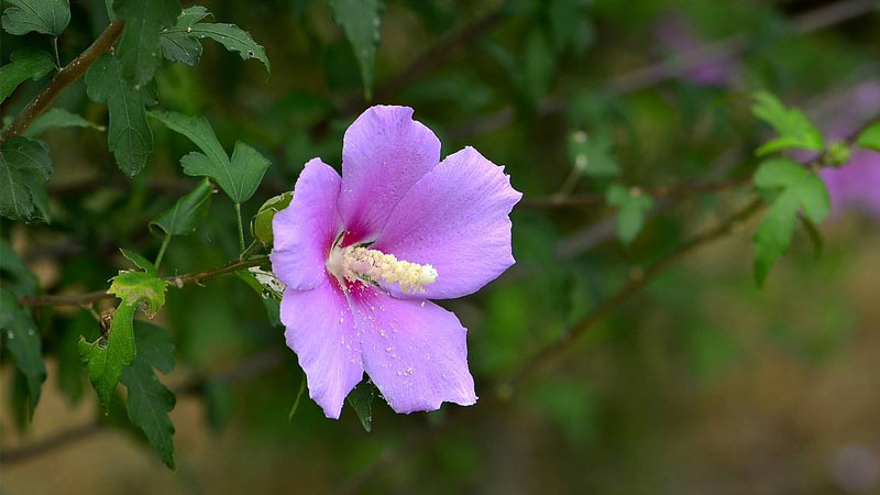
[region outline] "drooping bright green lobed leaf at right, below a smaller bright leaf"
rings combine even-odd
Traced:
[[[788,160],[762,163],[755,185],[776,198],[755,232],[755,279],[763,285],[776,261],[789,250],[799,211],[813,223],[821,223],[831,208],[822,179]]]

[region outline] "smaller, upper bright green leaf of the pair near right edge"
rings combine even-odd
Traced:
[[[787,109],[773,95],[767,91],[757,92],[751,111],[755,117],[772,125],[779,133],[779,138],[765,143],[758,148],[758,155],[792,147],[812,151],[822,150],[822,133],[813,125],[813,122],[796,108]]]

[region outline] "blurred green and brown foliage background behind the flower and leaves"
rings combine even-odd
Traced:
[[[326,1],[205,4],[266,47],[272,74],[206,43],[197,68],[163,65],[160,105],[204,114],[222,143],[243,140],[272,157],[244,206],[250,218],[293,188],[307,160],[339,164],[342,132],[367,103]],[[66,59],[107,22],[103,2],[72,9]],[[397,416],[377,400],[372,432],[350,408],[324,419],[307,397],[288,418],[302,372],[283,328],[241,280],[211,282],[170,292],[153,320],[177,344],[177,367],[164,377],[178,393],[170,472],[124,421],[98,415],[76,371],[76,340],[97,332],[92,317],[46,309],[48,381],[24,429],[3,406],[0,490],[880,493],[880,177],[870,172],[880,156],[870,152],[845,166],[855,170],[840,179],[848,186],[832,188],[822,249],[799,231],[763,288],[751,274],[752,218],[682,256],[501,397],[495,387],[650,263],[755,197],[754,150],[770,135],[750,113],[755,90],[796,105],[829,135],[876,119],[877,9],[859,0],[387,0],[373,102],[414,107],[443,155],[473,145],[525,194],[513,213],[516,266],[443,302],[470,330],[481,403]],[[33,42],[3,34],[2,59]],[[38,87],[20,89],[3,114]],[[81,81],[57,105],[105,122]],[[55,221],[3,226],[46,292],[105,287],[125,266],[119,246],[158,250],[146,223],[195,179],[177,163],[193,145],[153,124],[156,151],[133,180],[105,134],[46,134]],[[615,182],[658,196],[630,245],[602,200],[612,179],[578,173],[578,132],[600,143],[591,163],[617,166]],[[215,201],[194,235],[175,239],[168,268],[237,255],[227,207]],[[9,406],[11,363],[2,374]]]

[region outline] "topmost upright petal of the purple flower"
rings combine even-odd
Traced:
[[[342,141],[339,209],[353,241],[375,239],[394,207],[440,162],[440,140],[409,107],[371,107]]]

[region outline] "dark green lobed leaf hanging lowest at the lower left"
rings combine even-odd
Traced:
[[[129,420],[144,432],[165,465],[175,469],[174,424],[168,413],[176,398],[153,372],[154,367],[163,373],[174,369],[174,340],[167,330],[146,323],[138,324],[135,338],[138,356],[120,378],[129,391]]]

